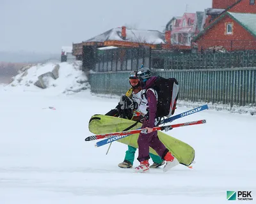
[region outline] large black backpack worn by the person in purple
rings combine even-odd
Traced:
[[[158,95],[156,117],[170,117],[173,115],[179,96],[179,83],[176,78],[157,76],[152,88],[156,90]]]

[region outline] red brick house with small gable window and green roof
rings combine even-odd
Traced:
[[[243,1],[243,0],[242,0]],[[256,50],[256,13],[227,11],[193,40],[198,51],[220,48],[227,51]]]

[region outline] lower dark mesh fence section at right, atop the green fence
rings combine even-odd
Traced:
[[[256,66],[256,50],[227,53],[152,55],[155,69],[214,69]],[[157,61],[157,62],[156,62]]]

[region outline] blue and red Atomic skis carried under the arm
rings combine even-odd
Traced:
[[[198,108],[194,108],[194,109],[189,110],[187,112],[180,113],[180,114],[175,115],[173,117],[169,117],[168,119],[161,120],[160,125],[165,124],[167,122],[172,122],[173,120],[176,120],[176,119],[179,119],[179,118],[185,117],[187,115],[191,115],[193,113],[197,113],[197,112],[200,112],[200,111],[206,110],[206,109],[208,109],[208,105],[203,105],[203,106],[200,106]],[[184,123],[180,123],[180,124],[154,127],[153,131],[159,131],[159,130],[169,131],[173,128],[179,128],[179,127],[184,127],[184,126],[192,126],[192,125],[204,124],[204,123],[206,123],[206,120],[196,120],[196,121],[192,121],[192,122],[184,122]],[[131,130],[131,131],[122,131],[122,132],[116,132],[116,133],[106,133],[106,134],[100,134],[100,135],[92,135],[92,136],[88,136],[87,138],[85,138],[85,141],[105,139],[105,140],[101,140],[100,142],[97,142],[95,144],[95,147],[100,147],[102,145],[106,145],[108,143],[114,142],[114,141],[119,140],[121,138],[125,138],[126,136],[129,136],[129,135],[132,135],[132,134],[137,134],[137,133],[147,134],[147,129],[143,128],[143,129],[134,129],[134,130]]]

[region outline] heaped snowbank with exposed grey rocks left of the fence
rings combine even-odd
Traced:
[[[82,71],[81,61],[46,63],[25,66],[5,89],[23,91],[51,90],[56,93],[72,94],[90,88]],[[40,88],[42,87],[42,88]]]

